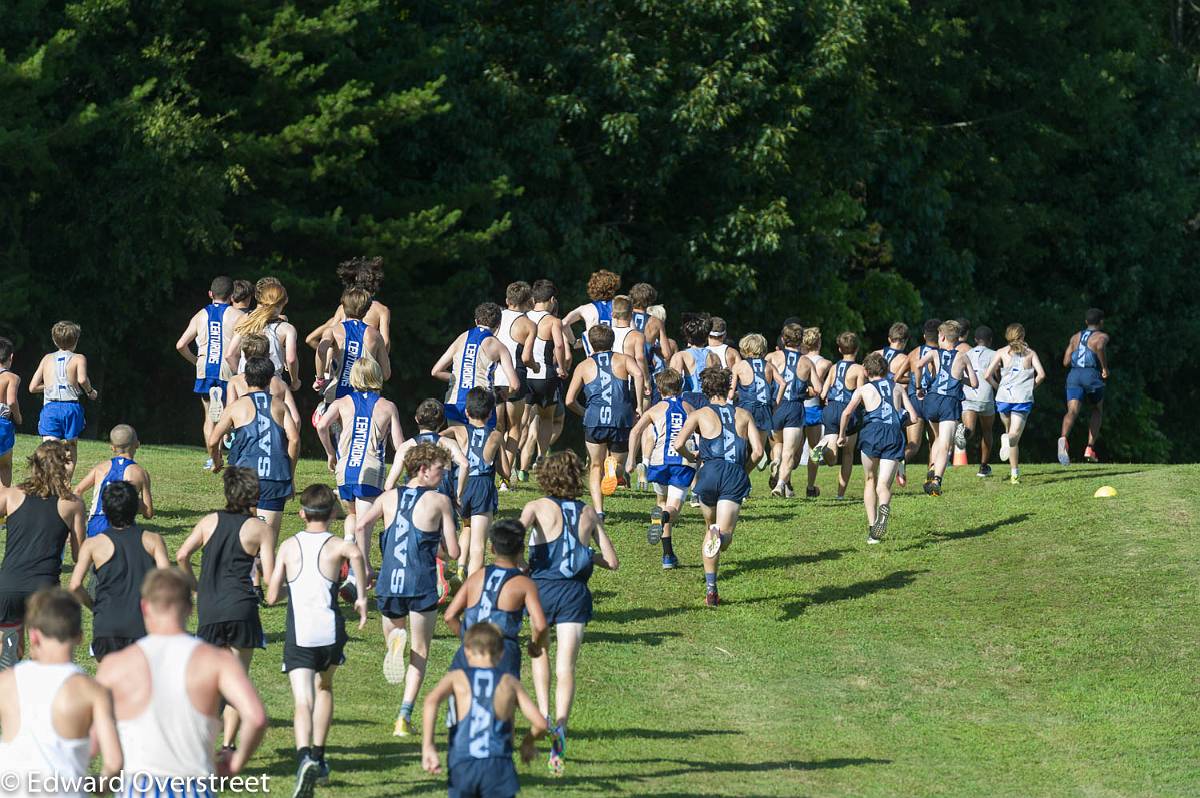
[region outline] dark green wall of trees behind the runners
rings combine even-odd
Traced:
[[[672,328],[1020,320],[1045,456],[1098,305],[1106,454],[1184,458],[1200,23],[1166,5],[8,2],[0,332],[28,371],[78,319],[91,432],[193,439],[173,344],[217,272],[280,276],[307,332],[383,256],[410,408],[478,301],[605,266]]]

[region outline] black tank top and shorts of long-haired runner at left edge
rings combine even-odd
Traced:
[[[59,516],[59,498],[26,496],[8,516],[4,563],[0,564],[0,624],[20,624],[25,600],[59,584],[62,553],[71,529]]]

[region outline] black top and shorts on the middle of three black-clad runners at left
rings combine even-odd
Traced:
[[[92,605],[91,653],[97,661],[145,637],[142,620],[142,582],[155,562],[142,542],[137,526],[102,532],[113,545],[113,556],[96,568],[96,600]]]

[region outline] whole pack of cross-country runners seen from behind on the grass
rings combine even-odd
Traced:
[[[136,522],[155,510],[131,426],[110,431],[113,456],[72,487],[84,428],[79,400],[97,391],[86,359],[74,352],[80,330],[71,322],[54,325],[56,352],[30,380],[32,392],[44,394],[43,443],[29,457],[25,481],[11,486],[20,380],[11,371],[12,344],[0,338],[0,443],[7,443],[0,457],[0,510],[7,517],[0,666],[16,664],[0,672],[0,766],[83,774],[86,732],[94,728],[106,774],[151,773],[186,788],[150,785],[157,794],[208,794],[204,779],[238,773],[262,739],[265,716],[246,672],[253,652],[266,644],[260,608],[286,589],[283,670],[295,709],[295,794],[310,796],[330,775],[332,684],[347,641],[340,600],[353,604],[361,629],[373,588],[383,674],[401,685],[394,733],[416,733],[414,709],[444,607],[462,648],[425,697],[422,764],[440,769],[434,719],[445,701],[450,793],[512,794],[511,721],[518,709],[530,724],[522,757],[532,758],[534,740],[548,733],[547,767],[563,772],[576,661],[593,613],[588,580],[596,566],[619,565],[605,529],[605,498],[619,486],[634,479],[653,486],[647,540],[661,545],[668,570],[679,562],[673,533],[680,515],[698,505],[704,601],[715,607],[721,554],[732,544],[755,467],[769,467],[770,491],[784,498],[797,493],[792,480],[804,470],[805,497],[814,498],[818,467],[838,463],[836,496],[844,499],[858,451],[868,542],[876,544],[887,533],[893,482],[906,485],[906,463],[926,440],[924,491],[940,496],[955,448],[972,437],[980,439],[978,474],[990,475],[998,414],[1000,456],[1019,482],[1020,439],[1045,377],[1020,324],[1009,325],[1006,346],[992,349],[986,326],[970,334],[962,319],[931,319],[910,349],[908,328],[898,323],[888,344],[860,362],[856,334],[839,335],[838,356],[829,360],[821,354],[821,331],[798,319],[784,324],[774,347],[761,334],[734,346],[726,342],[724,319],[685,313],[677,342],[652,286],[620,294],[619,276],[601,270],[588,281],[589,301],[565,314],[548,280],[510,284],[505,307],[479,305],[469,329],[431,368],[448,384],[444,398],[420,402],[416,433],[406,438],[408,420],[382,396],[391,346],[390,312],[376,298],[382,262],[350,260],[338,276],[340,307],[305,338],[314,349],[312,388],[320,397],[311,421],[335,487],[314,484],[300,493],[304,529],[282,544],[302,421],[294,400],[301,388],[299,334],[284,314],[287,292],[278,280],[263,278],[248,292],[242,286],[239,307],[240,281],[217,277],[209,302],[178,341],[196,366],[205,467],[223,472],[224,509],[204,516],[174,556],[161,535]],[[1063,356],[1070,367],[1058,444],[1063,464],[1085,400],[1092,418],[1084,456],[1096,458],[1106,343],[1103,316],[1088,311]],[[568,412],[582,416],[586,460],[553,451]],[[530,479],[542,498],[524,504],[518,518],[497,521],[498,493]],[[90,509],[82,498],[89,490]],[[338,515],[341,538],[331,532]],[[371,546],[377,523],[378,566]],[[62,590],[56,586],[67,547],[74,568]],[[194,637],[184,631],[193,592]],[[94,613],[95,679],[71,665],[82,637],[80,605]],[[532,698],[521,683],[524,618]],[[18,662],[26,634],[32,659]],[[125,794],[148,794],[138,787],[126,782]]]

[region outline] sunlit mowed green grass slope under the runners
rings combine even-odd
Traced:
[[[32,445],[22,437],[18,457]],[[80,449],[82,467],[107,456]],[[144,446],[138,460],[158,506],[146,527],[174,551],[220,505],[220,479],[199,449]],[[1031,466],[1020,486],[1004,472],[954,469],[937,499],[899,491],[871,547],[858,468],[846,502],[832,498],[834,469],[816,500],[768,498],[756,474],[718,610],[703,606],[698,511],[676,530],[683,566],[664,572],[646,544],[648,494],[619,492],[608,526],[622,565],[592,578],[568,769],[547,775],[544,743],[518,766],[524,794],[1200,794],[1200,467]],[[330,480],[324,463],[302,462],[298,486],[317,480]],[[1118,497],[1093,499],[1100,485]],[[500,496],[512,515],[538,494]],[[299,528],[284,521],[284,535]],[[263,623],[253,679],[271,726],[250,770],[289,792],[283,607]],[[383,680],[373,604],[350,637],[320,792],[443,793],[419,739],[391,736],[400,689]],[[426,685],[456,646],[439,625]],[[438,740],[444,757],[440,726]]]

